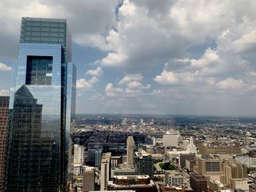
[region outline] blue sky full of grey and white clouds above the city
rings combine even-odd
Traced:
[[[255,10],[255,0],[1,0],[0,95],[21,18],[66,18],[77,113],[256,116]]]

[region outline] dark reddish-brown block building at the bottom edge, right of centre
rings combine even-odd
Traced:
[[[207,179],[202,174],[190,174],[190,187],[194,192],[206,192],[207,188]]]

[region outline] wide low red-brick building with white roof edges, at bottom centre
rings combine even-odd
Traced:
[[[108,182],[108,190],[135,190],[136,192],[157,192],[157,185],[148,175],[114,176]]]

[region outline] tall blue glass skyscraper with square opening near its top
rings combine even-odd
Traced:
[[[67,20],[22,18],[4,191],[66,191],[76,69]]]

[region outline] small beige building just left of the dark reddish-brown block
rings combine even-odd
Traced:
[[[165,171],[165,184],[181,186],[184,184],[184,176],[181,175],[181,172]]]

